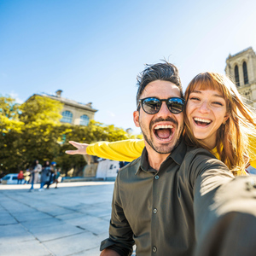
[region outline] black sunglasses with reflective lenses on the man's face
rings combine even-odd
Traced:
[[[143,110],[149,114],[158,113],[162,106],[162,102],[166,102],[166,106],[171,113],[183,112],[185,100],[182,98],[172,97],[172,98],[161,100],[156,97],[148,97],[148,98],[139,100],[139,103],[142,104]],[[138,105],[138,108],[139,108],[139,105]]]

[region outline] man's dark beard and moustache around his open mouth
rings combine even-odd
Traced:
[[[177,147],[179,141],[180,141],[180,137],[181,137],[181,133],[183,131],[183,129],[180,129],[179,133],[177,134],[177,143],[175,143],[174,147],[170,146],[170,147],[166,147],[165,145],[163,146],[160,146],[160,147],[157,147],[156,145],[154,145],[154,142],[153,142],[153,139],[152,137],[150,136],[150,133],[154,131],[152,131],[152,126],[157,123],[157,122],[164,122],[164,121],[167,121],[167,122],[172,122],[173,124],[177,125],[177,128],[178,128],[178,124],[177,124],[177,120],[176,119],[173,119],[172,117],[169,117],[167,119],[162,119],[162,118],[159,118],[159,119],[155,119],[154,121],[151,121],[150,124],[149,124],[149,137],[146,135],[146,132],[143,131],[143,125],[141,124],[140,122],[140,126],[141,126],[141,130],[143,132],[143,137],[145,139],[145,141],[148,143],[148,145],[154,149],[155,152],[159,153],[159,154],[171,154],[172,153],[172,150],[174,148]],[[173,139],[175,139],[173,137]],[[169,143],[167,143],[169,144]]]

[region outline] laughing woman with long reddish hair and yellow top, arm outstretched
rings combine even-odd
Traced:
[[[249,163],[256,167],[256,115],[242,102],[230,79],[218,73],[200,73],[189,83],[185,100],[186,143],[207,148],[235,175],[246,174]],[[144,148],[138,140],[70,143],[78,150],[67,154],[94,154],[111,160],[134,160]]]

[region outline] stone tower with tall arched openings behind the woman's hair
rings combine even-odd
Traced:
[[[252,47],[226,59],[225,73],[236,82],[239,93],[247,104],[256,108],[256,54]]]

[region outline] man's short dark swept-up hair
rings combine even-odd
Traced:
[[[146,68],[143,70],[142,73],[139,73],[137,76],[137,107],[143,90],[149,83],[155,80],[169,81],[173,84],[176,84],[178,89],[180,90],[181,97],[183,97],[183,88],[179,78],[177,67],[175,67],[168,61],[165,61],[164,63],[157,63],[154,65],[146,64]]]

